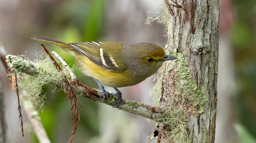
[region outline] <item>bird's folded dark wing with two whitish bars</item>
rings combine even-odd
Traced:
[[[103,52],[101,42],[70,43],[69,45],[102,68],[109,71],[120,71],[113,57]]]

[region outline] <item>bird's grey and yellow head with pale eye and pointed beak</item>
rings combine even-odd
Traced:
[[[160,46],[145,42],[125,45],[123,57],[129,70],[147,77],[158,71],[163,61],[177,59],[165,55]]]

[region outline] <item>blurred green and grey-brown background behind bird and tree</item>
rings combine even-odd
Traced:
[[[160,11],[163,0],[0,0],[0,41],[7,54],[34,58],[40,51],[33,36],[46,36],[65,42],[122,41],[152,42],[164,47],[164,26],[152,22],[146,25],[148,11]],[[218,70],[218,102],[216,143],[248,143],[256,137],[256,1],[220,0],[220,41]],[[74,58],[51,44],[72,66]],[[0,63],[0,78],[4,89],[5,115],[11,143],[38,142],[25,112],[22,137],[18,119],[16,94]],[[92,78],[75,69],[80,82],[98,88]],[[144,81],[120,91],[126,100],[151,104],[149,89],[153,81]],[[1,87],[1,86],[0,86]],[[68,142],[73,129],[71,103],[63,91],[49,85],[42,123],[52,143]],[[106,88],[108,92],[115,92]],[[156,124],[145,118],[125,113],[102,103],[79,97],[80,121],[73,142],[147,143]],[[3,116],[3,115],[0,115]],[[154,140],[155,141],[155,140]],[[152,141],[152,142],[154,142]]]

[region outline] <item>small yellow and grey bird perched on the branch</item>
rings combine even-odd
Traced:
[[[114,107],[122,101],[122,94],[117,87],[136,85],[157,72],[163,61],[177,59],[165,55],[163,49],[153,43],[65,43],[43,36],[34,36],[32,39],[59,46],[74,56],[79,70],[93,77],[100,87],[102,100],[108,94],[101,84],[114,87],[118,96]]]

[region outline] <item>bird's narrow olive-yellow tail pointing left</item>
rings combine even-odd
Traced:
[[[43,37],[43,36],[34,36],[34,38],[31,38],[31,39],[46,42],[46,43],[50,43],[50,44],[59,46],[61,48],[70,48],[71,47],[69,45],[69,43],[65,43],[65,42],[62,42],[62,41],[59,41],[59,40],[55,40],[55,39],[47,38],[47,37]]]

